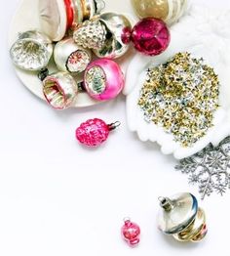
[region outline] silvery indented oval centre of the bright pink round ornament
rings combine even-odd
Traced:
[[[97,65],[90,68],[86,74],[86,83],[91,93],[94,95],[101,94],[106,87],[106,77],[103,69]]]

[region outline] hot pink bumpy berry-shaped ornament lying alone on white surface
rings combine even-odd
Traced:
[[[97,147],[105,142],[110,131],[120,126],[120,122],[106,124],[103,120],[95,118],[82,123],[76,130],[76,139],[88,147]]]

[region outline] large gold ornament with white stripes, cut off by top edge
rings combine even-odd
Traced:
[[[184,14],[188,0],[132,0],[139,18],[156,18],[172,24]]]

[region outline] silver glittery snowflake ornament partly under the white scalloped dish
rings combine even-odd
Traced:
[[[193,156],[180,160],[175,170],[188,175],[189,184],[199,187],[202,199],[212,192],[223,195],[230,189],[230,137],[218,147],[210,144]]]

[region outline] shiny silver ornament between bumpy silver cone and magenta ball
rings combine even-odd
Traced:
[[[99,21],[106,26],[107,36],[104,45],[94,50],[98,58],[117,59],[123,56],[130,45],[122,40],[125,30],[132,30],[132,23],[123,15],[105,13],[100,15]]]

